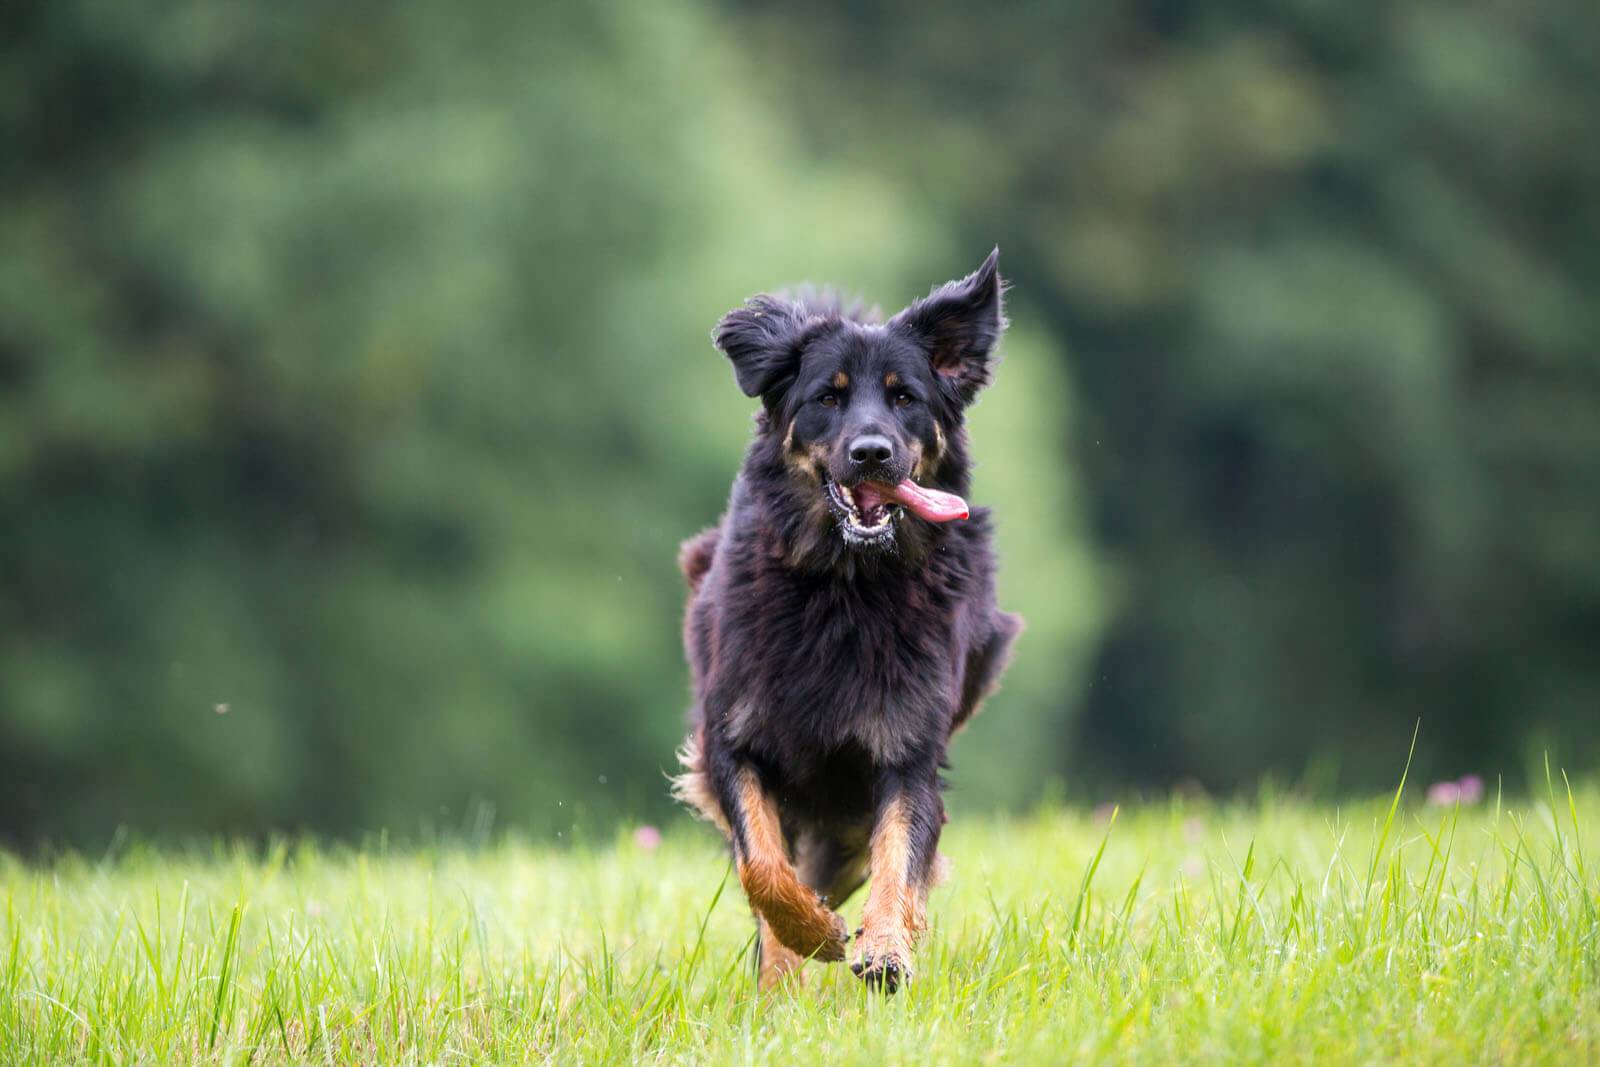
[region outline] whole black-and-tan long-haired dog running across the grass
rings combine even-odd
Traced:
[[[845,958],[834,909],[869,877],[851,969],[888,992],[912,976],[946,749],[1021,630],[965,501],[998,261],[888,322],[760,294],[712,333],[760,411],[726,512],[678,558],[694,702],[674,792],[733,846],[763,989]]]

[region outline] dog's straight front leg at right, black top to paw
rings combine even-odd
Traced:
[[[928,888],[944,825],[934,776],[890,779],[880,787],[872,827],[872,889],[850,969],[894,992],[910,981],[910,953],[926,925]]]

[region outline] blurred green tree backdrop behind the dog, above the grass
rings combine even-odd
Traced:
[[[1594,3],[0,27],[3,840],[667,817],[709,328],[995,243],[955,806],[1600,758]]]

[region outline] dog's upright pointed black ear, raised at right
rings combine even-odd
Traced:
[[[971,403],[989,384],[994,349],[1005,331],[1000,250],[960,282],[946,282],[890,320],[890,328],[912,338],[928,352],[933,370]]]

